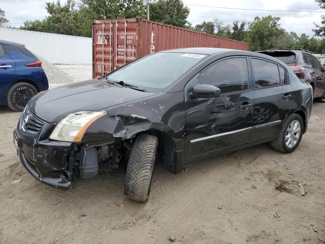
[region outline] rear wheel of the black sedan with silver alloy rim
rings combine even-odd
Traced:
[[[290,136],[288,138],[288,135],[292,135],[292,133],[290,133],[290,129],[294,129],[296,125],[297,127],[300,127],[300,130],[298,130],[298,128],[295,129],[296,132],[293,133],[293,136]],[[282,124],[278,138],[272,141],[271,145],[277,151],[281,151],[285,154],[291,153],[298,147],[303,136],[303,131],[304,124],[301,116],[296,113],[291,114],[289,115],[289,117],[286,118],[286,120]],[[289,144],[287,144],[287,142],[289,142]]]

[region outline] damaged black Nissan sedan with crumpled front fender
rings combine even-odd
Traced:
[[[26,170],[48,185],[69,188],[99,165],[124,167],[124,195],[145,201],[158,157],[180,173],[192,161],[264,142],[291,153],[311,108],[312,87],[277,58],[175,49],[38,94],[14,137]]]

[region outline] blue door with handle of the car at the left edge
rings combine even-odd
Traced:
[[[3,45],[0,44],[0,104],[6,103],[7,91],[11,85],[15,69],[15,61],[5,53]]]

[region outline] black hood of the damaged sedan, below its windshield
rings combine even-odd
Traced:
[[[155,94],[92,79],[42,92],[28,102],[28,108],[48,123],[57,123],[70,113],[99,111],[153,95]]]

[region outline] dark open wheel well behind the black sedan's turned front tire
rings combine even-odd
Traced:
[[[176,173],[177,154],[174,141],[166,133],[156,130],[143,132],[144,134],[154,135],[158,138],[158,160],[161,159],[166,164],[167,170]]]

